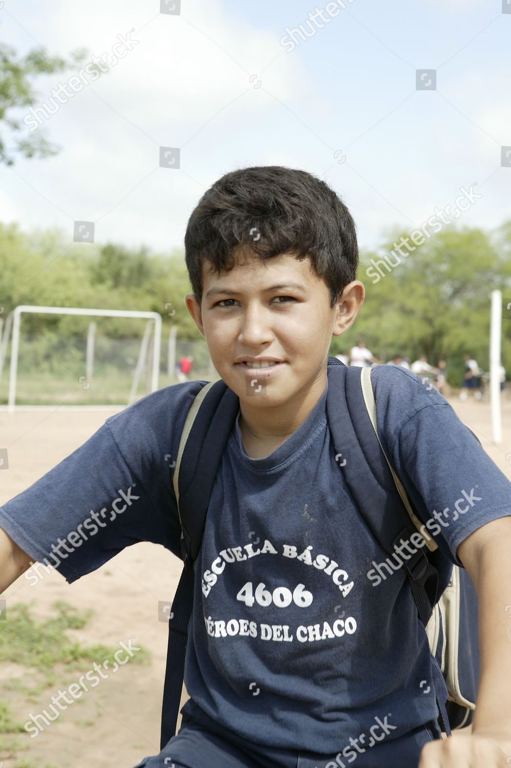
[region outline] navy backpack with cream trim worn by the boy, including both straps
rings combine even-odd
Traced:
[[[394,554],[394,544],[409,541],[421,526],[424,531],[424,525],[380,445],[370,372],[370,368],[348,368],[328,357],[327,420],[336,461],[354,502],[383,550]],[[201,548],[214,479],[238,411],[239,398],[224,381],[208,382],[192,403],[181,433],[173,485],[184,569],[168,624],[161,749],[174,736],[178,720],[194,600],[194,561]],[[341,457],[350,460],[340,461]],[[451,728],[471,722],[476,707],[477,597],[465,569],[453,566],[423,531],[426,546],[417,547],[403,566],[433,657],[440,727],[449,736]]]

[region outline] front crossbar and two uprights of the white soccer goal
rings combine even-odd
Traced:
[[[131,317],[147,319],[154,323],[154,348],[151,366],[151,392],[158,389],[158,377],[160,372],[161,350],[161,315],[158,312],[138,312],[136,310],[93,310],[82,307],[68,306],[29,306],[20,304],[12,313],[12,349],[11,370],[9,377],[8,412],[15,410],[16,402],[16,378],[18,373],[19,338],[22,313],[41,313],[52,315],[84,315],[96,317]],[[91,331],[92,333],[92,331]],[[91,345],[91,340],[89,341]],[[91,353],[89,352],[89,355]],[[91,360],[89,360],[91,365]]]

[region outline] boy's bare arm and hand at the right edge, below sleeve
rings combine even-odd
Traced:
[[[473,729],[470,736],[455,733],[447,740],[426,744],[419,768],[503,768],[511,764],[509,552],[511,516],[486,523],[458,548],[479,603],[481,670]]]

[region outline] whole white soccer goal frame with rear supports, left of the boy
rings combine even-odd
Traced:
[[[140,351],[138,353],[138,362],[134,369],[133,382],[131,385],[131,392],[128,399],[128,404],[134,402],[136,397],[138,382],[141,378],[141,374],[146,366],[148,357],[149,339],[151,336],[151,330],[154,328],[154,343],[152,348],[152,360],[151,360],[151,379],[149,389],[154,392],[158,389],[158,376],[160,371],[160,350],[161,350],[161,315],[158,312],[137,312],[135,310],[92,310],[83,309],[81,307],[67,307],[67,306],[17,306],[12,313],[12,349],[11,349],[11,366],[10,366],[10,378],[9,378],[9,392],[8,392],[8,411],[14,412],[16,402],[16,384],[18,377],[18,355],[19,355],[19,341],[20,341],[20,328],[22,313],[41,313],[50,315],[82,315],[82,316],[96,316],[96,317],[124,317],[124,318],[141,318],[147,319],[148,323],[145,327],[144,336],[141,340]],[[7,332],[8,329],[5,329]],[[85,376],[83,379],[90,381],[93,375],[94,369],[94,356],[95,356],[95,331],[96,324],[90,323],[88,326],[87,334],[87,350],[85,356]],[[4,332],[4,339],[2,339],[3,354],[0,358],[3,362],[5,356],[5,347],[8,341],[7,334]],[[84,386],[85,389],[85,386]]]

